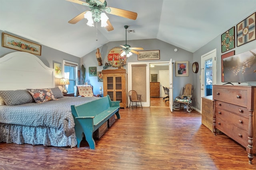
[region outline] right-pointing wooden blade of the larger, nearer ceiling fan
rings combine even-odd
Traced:
[[[137,15],[138,15],[136,12],[126,11],[126,10],[122,10],[122,9],[114,8],[114,7],[109,7],[109,6],[106,7],[105,11],[108,14],[113,14],[113,15],[116,15],[116,16],[129,18],[131,20],[136,20]]]

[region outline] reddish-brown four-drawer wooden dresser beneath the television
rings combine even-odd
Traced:
[[[214,85],[213,100],[214,135],[218,129],[240,143],[252,164],[256,154],[256,86]]]

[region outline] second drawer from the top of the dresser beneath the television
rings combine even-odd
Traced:
[[[240,115],[242,117],[247,117],[247,118],[249,117],[249,114],[250,114],[250,111],[245,107],[228,104],[221,101],[216,101],[216,109],[217,108],[220,108],[222,110],[228,110],[230,112],[236,113],[237,115]],[[216,114],[217,113],[218,112],[216,111]]]

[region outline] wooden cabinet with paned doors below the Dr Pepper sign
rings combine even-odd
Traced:
[[[109,95],[112,101],[120,101],[120,107],[126,108],[127,102],[127,73],[126,70],[102,70],[103,96]]]

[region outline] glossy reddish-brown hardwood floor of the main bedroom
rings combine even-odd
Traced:
[[[216,136],[193,110],[120,109],[121,119],[96,140],[96,149],[0,143],[0,169],[17,170],[252,170],[244,147]]]

